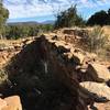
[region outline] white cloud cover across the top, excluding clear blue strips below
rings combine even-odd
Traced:
[[[47,3],[45,3],[45,2]],[[77,3],[78,8],[92,8],[96,4],[92,0],[4,0],[4,6],[10,11],[10,19],[33,18],[53,14],[53,9],[58,11],[66,9],[70,3]],[[108,3],[107,0],[97,1],[98,6]]]

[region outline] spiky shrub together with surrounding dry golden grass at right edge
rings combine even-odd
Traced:
[[[94,26],[92,31],[88,32],[87,37],[82,40],[82,44],[86,45],[86,51],[96,53],[100,58],[108,61],[110,59],[109,37],[101,26]]]

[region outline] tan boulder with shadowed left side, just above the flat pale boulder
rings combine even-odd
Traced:
[[[110,72],[105,65],[100,65],[98,63],[92,63],[88,65],[87,74],[95,81],[108,81],[110,79]]]

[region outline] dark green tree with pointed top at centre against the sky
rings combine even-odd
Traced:
[[[55,29],[69,28],[73,25],[80,25],[82,23],[84,20],[80,15],[78,15],[76,6],[72,6],[67,10],[58,13],[55,22]]]

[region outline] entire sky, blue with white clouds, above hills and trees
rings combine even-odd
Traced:
[[[95,2],[94,2],[95,1]],[[4,0],[3,4],[9,9],[8,22],[24,22],[55,20],[55,15],[77,3],[78,13],[88,19],[96,11],[108,10],[110,0]]]

